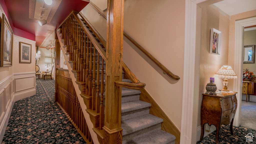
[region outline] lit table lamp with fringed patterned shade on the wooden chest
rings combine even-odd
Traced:
[[[227,87],[228,79],[237,78],[237,75],[235,74],[231,66],[222,66],[215,74],[215,77],[224,78],[224,81],[222,82],[224,87],[221,90],[229,91]]]

